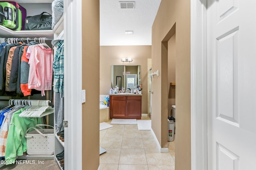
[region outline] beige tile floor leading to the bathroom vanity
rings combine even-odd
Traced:
[[[142,120],[150,117],[143,115]],[[151,131],[113,126],[100,131],[100,146],[107,150],[100,155],[100,170],[174,170],[175,141],[168,142],[169,153],[160,153]]]

